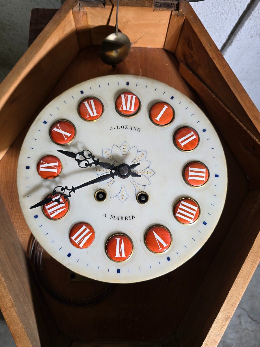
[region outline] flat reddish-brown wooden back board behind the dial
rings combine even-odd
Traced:
[[[160,69],[158,69],[158,65]],[[203,107],[194,91],[180,76],[178,65],[171,53],[161,49],[132,48],[130,56],[116,69],[112,69],[99,60],[98,47],[91,46],[80,51],[36,115],[44,105],[73,85],[93,77],[116,73],[136,74],[157,79],[177,88]],[[34,117],[31,121],[33,119]],[[27,252],[31,232],[21,213],[16,187],[17,159],[25,134],[26,129],[0,161],[0,180],[2,182],[0,195],[21,244]],[[86,339],[89,342],[108,340],[159,342],[177,330],[246,194],[246,178],[225,143],[224,148],[228,162],[228,174],[234,175],[234,184],[229,186],[222,218],[201,251],[190,261],[167,275],[151,281],[117,286],[115,291],[98,305],[86,308],[65,306],[45,294],[46,301],[61,332],[73,339]],[[8,174],[10,169],[14,173],[12,176]],[[239,190],[235,183],[240,186]],[[10,195],[12,199],[10,199]],[[69,270],[46,253],[43,255],[43,269],[52,287],[59,293],[72,298],[94,295],[104,289],[102,282],[71,281]],[[151,287],[153,290],[150,290]],[[162,295],[162,293],[164,294]],[[167,306],[163,304],[165,297],[170,298]],[[87,324],[86,317],[88,317]],[[159,333],[158,327],[160,327]]]

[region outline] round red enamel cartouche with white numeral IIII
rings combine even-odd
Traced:
[[[173,214],[180,223],[192,224],[199,218],[200,208],[195,200],[182,198],[175,203]]]

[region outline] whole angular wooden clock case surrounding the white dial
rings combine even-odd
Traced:
[[[118,67],[104,65],[98,45],[113,31],[112,3],[67,0],[1,84],[0,308],[22,347],[214,347],[259,262],[259,112],[185,0],[172,1],[171,9],[154,8],[152,0],[120,1],[119,29],[133,45]],[[18,201],[17,161],[29,125],[47,103],[109,74],[157,79],[205,111],[223,143],[227,198],[207,243],[180,268],[118,285],[96,305],[71,307],[46,294],[28,265],[32,235]],[[69,270],[47,254],[43,267],[68,296],[104,286],[70,280]]]

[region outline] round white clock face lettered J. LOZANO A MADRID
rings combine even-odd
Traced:
[[[111,173],[57,151],[85,149],[114,167],[138,164],[135,176],[80,188],[67,202],[51,195]],[[51,256],[83,276],[129,283],[172,271],[206,242],[224,206],[227,168],[196,104],[161,82],[114,75],[43,109],[21,148],[17,185],[28,226]],[[30,209],[48,195],[54,201]]]

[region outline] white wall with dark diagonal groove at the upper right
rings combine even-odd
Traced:
[[[260,110],[259,0],[205,0],[191,6]]]

